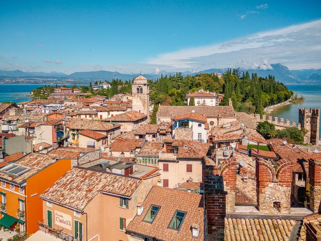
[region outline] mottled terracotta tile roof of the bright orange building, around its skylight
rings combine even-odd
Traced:
[[[16,183],[21,183],[26,179],[28,179],[33,174],[41,171],[42,169],[46,168],[48,165],[51,165],[52,157],[44,154],[29,153],[23,156],[21,159],[15,161],[14,163],[30,167],[30,170],[26,171],[25,173],[21,174],[18,177],[0,172],[0,178],[13,181]]]

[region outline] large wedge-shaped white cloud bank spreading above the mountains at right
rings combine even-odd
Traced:
[[[174,68],[269,68],[282,63],[291,69],[320,68],[321,19],[207,46],[181,49],[149,59]],[[300,46],[298,48],[298,46]]]

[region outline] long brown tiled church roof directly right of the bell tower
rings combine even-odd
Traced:
[[[178,116],[191,113],[204,115],[206,117],[235,117],[235,111],[232,106],[164,106],[158,108],[157,116]]]

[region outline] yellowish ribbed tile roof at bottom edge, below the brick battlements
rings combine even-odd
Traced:
[[[295,220],[284,219],[227,219],[224,240],[288,241]]]

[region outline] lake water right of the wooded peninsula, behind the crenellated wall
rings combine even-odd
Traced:
[[[298,94],[298,96],[303,95],[305,100],[303,103],[299,104],[288,104],[280,108],[275,109],[269,115],[272,117],[279,117],[285,119],[290,119],[291,121],[299,122],[299,108],[319,108],[321,109],[321,84],[319,85],[288,85],[289,90],[292,90]],[[320,121],[320,134],[321,136],[321,121]]]

